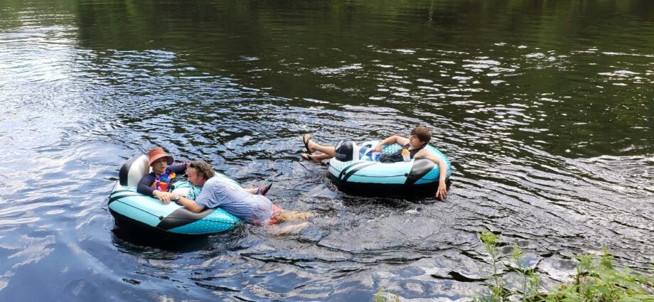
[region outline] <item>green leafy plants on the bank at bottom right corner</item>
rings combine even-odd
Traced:
[[[493,276],[489,277],[492,282],[487,284],[490,295],[477,298],[478,301],[507,301],[510,296],[512,301],[517,301],[520,297],[520,301],[528,302],[654,302],[654,278],[636,274],[628,267],[616,268],[613,266],[613,256],[606,249],[599,258],[592,254],[577,256],[579,264],[574,281],[561,284],[547,292],[541,288],[540,277],[534,269],[520,266],[524,255],[520,247],[514,244],[510,259],[516,264],[513,269],[522,276],[522,284],[513,284],[515,288],[520,289],[510,290],[498,276],[498,263],[508,257],[500,254],[500,237],[486,230],[479,234],[479,238],[491,256]]]

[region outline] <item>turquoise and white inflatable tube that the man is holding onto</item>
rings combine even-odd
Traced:
[[[170,234],[197,235],[232,230],[240,223],[237,217],[220,208],[194,213],[174,202],[164,205],[156,198],[137,193],[136,185],[145,173],[149,173],[149,167],[148,158],[144,155],[129,159],[120,169],[119,180],[109,195],[109,212],[117,225],[140,226]],[[218,173],[216,176],[226,178]],[[179,180],[173,183],[173,192],[195,199],[200,188],[193,187],[186,180]]]

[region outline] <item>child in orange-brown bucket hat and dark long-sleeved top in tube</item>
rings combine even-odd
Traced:
[[[136,186],[136,192],[170,203],[173,194],[168,192],[171,182],[186,172],[188,163],[173,165],[173,156],[170,156],[161,147],[148,151],[148,166],[152,172],[144,175]]]

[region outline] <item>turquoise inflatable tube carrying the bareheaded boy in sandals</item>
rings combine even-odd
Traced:
[[[379,141],[366,141],[361,146],[375,148]],[[402,149],[399,144],[382,146],[382,153],[392,154]],[[446,178],[449,183],[451,163],[438,149],[426,146],[425,149],[443,159],[447,167]],[[351,158],[355,158],[350,160]],[[341,156],[343,158],[343,156]],[[439,166],[425,158],[412,159],[399,163],[380,163],[361,160],[357,156],[345,156],[348,161],[331,158],[328,176],[338,188],[354,195],[433,195],[439,185]]]

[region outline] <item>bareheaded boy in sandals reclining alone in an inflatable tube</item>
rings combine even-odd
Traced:
[[[439,188],[436,190],[436,198],[445,200],[447,197],[447,188],[446,188],[446,175],[447,175],[447,166],[445,162],[441,159],[440,156],[436,156],[429,149],[424,149],[429,141],[431,140],[431,131],[425,126],[417,126],[411,131],[409,137],[402,136],[390,136],[382,140],[375,146],[375,149],[368,148],[358,148],[355,144],[354,149],[359,149],[356,153],[359,154],[359,158],[366,161],[381,161],[381,162],[397,162],[402,161],[402,150],[407,149],[409,151],[409,158],[427,158],[431,161],[434,161],[439,166]],[[300,153],[300,156],[306,160],[313,160],[318,163],[321,163],[323,160],[328,158],[333,158],[336,156],[336,147],[334,146],[323,146],[316,144],[311,139],[311,134],[304,134],[302,136],[302,141],[304,142],[304,147],[306,148],[307,153]],[[402,149],[398,150],[392,155],[382,154],[382,146],[387,144],[400,144]],[[339,143],[338,145],[341,145]],[[338,146],[337,145],[337,146]],[[314,154],[313,152],[319,151],[321,153]]]

